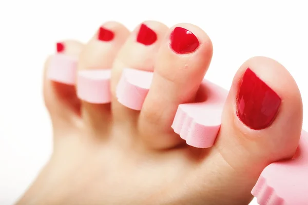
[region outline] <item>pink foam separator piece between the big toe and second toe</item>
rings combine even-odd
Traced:
[[[197,148],[213,146],[221,125],[221,115],[227,91],[203,80],[197,98],[200,103],[179,105],[172,128]]]

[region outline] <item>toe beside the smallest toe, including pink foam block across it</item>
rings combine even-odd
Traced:
[[[77,90],[82,99],[83,119],[102,128],[110,121],[110,73],[113,60],[123,46],[129,31],[122,24],[103,24],[85,45],[78,66]],[[104,128],[103,128],[104,127]],[[100,130],[99,129],[99,130]]]

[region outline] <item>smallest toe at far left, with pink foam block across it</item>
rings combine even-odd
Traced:
[[[48,57],[44,71],[44,100],[53,125],[80,114],[80,100],[74,87],[78,56],[83,45],[74,40],[56,44],[56,54]]]

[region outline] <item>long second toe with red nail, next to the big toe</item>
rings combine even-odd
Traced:
[[[168,31],[139,118],[149,145],[169,148],[181,142],[171,129],[172,120],[180,104],[195,99],[212,54],[211,40],[197,26],[179,24]]]

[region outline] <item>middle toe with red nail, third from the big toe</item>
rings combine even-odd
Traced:
[[[131,33],[114,61],[111,90],[115,99],[112,102],[112,112],[118,121],[130,123],[135,121],[139,114],[131,110],[134,109],[131,102],[136,101],[131,92],[136,89],[129,89],[129,85],[124,83],[125,71],[129,69],[137,74],[153,71],[158,50],[167,29],[168,27],[160,22],[150,20],[143,22]],[[134,73],[132,77],[139,78]]]

